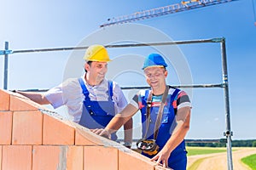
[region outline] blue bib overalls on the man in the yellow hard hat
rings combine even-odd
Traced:
[[[79,124],[90,129],[107,127],[108,122],[115,115],[112,100],[113,82],[108,81],[108,101],[91,101],[82,78],[79,78],[79,83],[84,94],[83,112]],[[111,134],[111,139],[117,140],[116,133]]]

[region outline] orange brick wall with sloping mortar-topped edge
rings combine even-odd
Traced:
[[[166,169],[121,144],[0,89],[0,170]]]

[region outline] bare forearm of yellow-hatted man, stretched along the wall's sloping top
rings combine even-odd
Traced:
[[[16,93],[26,96],[27,98],[31,99],[32,101],[40,104],[40,105],[49,105],[48,99],[44,97],[44,94],[38,94],[33,92],[20,92],[16,91]]]

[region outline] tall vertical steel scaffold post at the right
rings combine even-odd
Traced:
[[[226,121],[226,132],[224,133],[224,136],[226,136],[227,138],[228,169],[233,170],[232,146],[231,146],[232,132],[230,127],[230,96],[229,96],[226,44],[225,44],[224,38],[221,42],[221,55],[222,55],[222,73],[223,73],[224,99],[225,99],[225,121]]]

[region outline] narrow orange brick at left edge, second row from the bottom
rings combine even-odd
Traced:
[[[13,113],[0,111],[0,144],[11,144]]]

